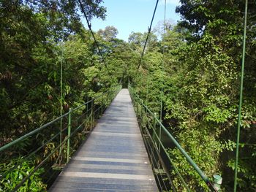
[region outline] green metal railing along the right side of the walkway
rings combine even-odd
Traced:
[[[218,174],[214,174],[213,181],[209,180],[208,177],[206,177],[206,174],[202,172],[202,170],[195,164],[195,162],[192,160],[192,158],[189,157],[189,155],[185,152],[185,150],[181,147],[181,145],[178,144],[176,139],[173,138],[173,136],[170,134],[169,131],[167,131],[167,128],[162,125],[162,123],[157,119],[156,114],[151,112],[148,107],[146,107],[145,104],[143,104],[142,99],[138,96],[137,93],[133,90],[133,88],[129,85],[129,93],[132,97],[132,103],[135,107],[136,116],[138,118],[138,122],[140,123],[140,131],[142,131],[144,142],[146,143],[146,147],[148,150],[148,155],[151,159],[151,164],[154,168],[154,164],[161,164],[162,172],[164,172],[167,175],[167,180],[169,180],[171,188],[173,191],[176,191],[176,187],[173,185],[173,181],[170,178],[170,170],[167,169],[167,166],[165,165],[164,161],[162,160],[162,154],[165,154],[167,157],[167,161],[171,164],[171,169],[174,169],[176,174],[181,180],[181,183],[184,185],[184,188],[189,190],[189,187],[187,186],[187,183],[184,181],[184,178],[181,176],[181,173],[178,171],[176,165],[173,163],[172,158],[167,152],[166,147],[162,143],[161,135],[162,131],[165,132],[167,135],[167,138],[172,141],[173,145],[178,147],[178,150],[181,151],[181,153],[184,155],[184,157],[187,159],[189,164],[195,169],[197,174],[200,175],[200,177],[203,179],[203,181],[206,183],[208,188],[211,191],[219,191],[220,184],[222,183],[222,177],[220,177]],[[157,130],[158,128],[158,130]],[[153,146],[152,146],[153,145]],[[152,147],[151,147],[152,146]],[[157,153],[158,160],[155,159],[154,153]],[[158,161],[158,162],[157,162]],[[161,169],[159,169],[159,165],[157,167],[157,170],[154,168],[155,172],[158,172],[157,174],[161,174]],[[159,180],[159,178],[157,178]],[[160,182],[160,180],[159,180]],[[158,185],[163,185],[163,188],[165,191],[168,189],[166,188],[165,183],[159,183]],[[159,186],[162,190],[162,186]],[[164,191],[164,190],[162,190]]]

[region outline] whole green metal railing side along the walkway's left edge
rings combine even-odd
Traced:
[[[47,191],[50,183],[55,180],[54,175],[57,176],[69,162],[70,156],[75,153],[120,90],[121,85],[111,88],[110,91],[73,110],[70,108],[61,117],[1,147],[0,164],[7,169],[0,170],[0,191]],[[42,138],[42,135],[47,136]],[[39,140],[43,145],[37,145]],[[21,149],[21,154],[20,147],[26,148]],[[38,157],[41,159],[36,161]],[[34,163],[24,171],[24,164],[32,160]],[[11,167],[8,166],[10,164]],[[34,177],[38,177],[37,182],[34,182]]]

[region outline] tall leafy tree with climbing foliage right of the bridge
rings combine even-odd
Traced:
[[[187,37],[189,46],[178,50],[183,69],[183,88],[178,91],[179,101],[168,101],[170,118],[179,123],[177,137],[188,151],[204,142],[187,136],[200,133],[211,146],[202,153],[208,153],[208,160],[214,162],[211,170],[222,174],[227,191],[233,188],[233,177],[229,167],[233,164],[233,148],[236,141],[237,111],[239,98],[239,76],[241,72],[241,46],[244,29],[244,1],[181,1],[176,9],[183,15],[179,26],[188,28],[193,36]],[[246,69],[244,76],[244,103],[241,115],[240,173],[238,186],[245,191],[255,188],[255,1],[249,2],[246,38]],[[184,109],[178,115],[174,110]],[[178,110],[181,111],[181,110]],[[177,130],[174,128],[174,130]],[[198,132],[199,131],[199,132]],[[195,134],[196,135],[196,134]],[[176,153],[172,151],[172,153]],[[195,154],[193,154],[195,153]],[[189,155],[202,167],[200,151]],[[176,155],[177,161],[178,153]],[[244,164],[244,162],[247,162]],[[203,163],[203,164],[202,164]],[[247,166],[246,166],[247,165]],[[183,166],[182,169],[184,169]],[[210,167],[208,165],[208,167]],[[189,172],[186,168],[185,172]],[[254,171],[253,171],[254,170]],[[206,172],[210,170],[206,169]],[[247,185],[247,183],[249,185]],[[246,188],[246,189],[245,189]]]

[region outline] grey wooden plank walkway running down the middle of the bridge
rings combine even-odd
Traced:
[[[118,93],[49,191],[158,191],[127,89]]]

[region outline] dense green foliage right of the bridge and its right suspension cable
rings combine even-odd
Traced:
[[[137,92],[144,101],[147,99],[151,111],[159,115],[164,75],[163,123],[209,178],[213,174],[222,175],[223,191],[232,191],[234,182],[244,7],[243,1],[181,1],[181,6],[176,9],[182,16],[181,22],[173,27],[167,22],[165,35],[160,36],[157,44],[148,45],[150,53],[145,55],[135,80]],[[255,15],[255,1],[251,1],[238,191],[254,191],[256,188]],[[160,26],[161,23],[155,30],[158,36]],[[134,37],[137,37],[136,41]],[[132,39],[136,43],[141,41],[135,33]],[[141,51],[138,47],[135,50]],[[192,191],[207,188],[176,147],[169,149],[169,153]],[[174,171],[173,177],[178,191],[183,191]]]

